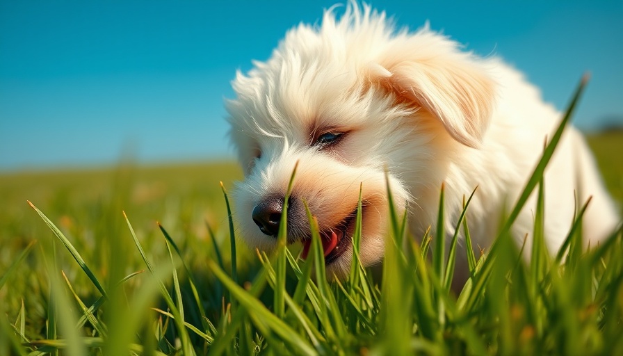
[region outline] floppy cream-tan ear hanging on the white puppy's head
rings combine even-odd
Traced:
[[[495,83],[467,54],[455,56],[375,64],[369,72],[399,102],[425,109],[455,140],[478,147],[489,126]]]

